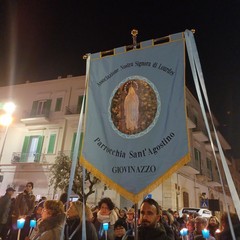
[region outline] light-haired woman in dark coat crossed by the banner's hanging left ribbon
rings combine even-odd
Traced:
[[[85,205],[86,206],[86,205]],[[83,204],[80,201],[70,202],[67,210],[67,225],[65,226],[65,239],[81,240],[82,239],[82,215]],[[91,209],[85,207],[86,216],[86,237],[87,240],[97,240],[96,229],[91,222],[93,215]]]

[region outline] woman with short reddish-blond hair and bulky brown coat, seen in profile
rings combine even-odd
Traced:
[[[47,200],[44,202],[42,218],[38,222],[37,232],[26,240],[60,240],[65,223],[64,206],[61,201]]]

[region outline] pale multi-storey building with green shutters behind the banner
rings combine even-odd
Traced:
[[[84,91],[85,76],[0,88],[0,102],[16,104],[13,123],[8,128],[0,126],[0,195],[8,186],[15,187],[17,194],[26,182],[32,181],[38,198],[57,197],[49,186],[50,166],[59,153],[71,156],[73,152]],[[219,201],[220,210],[225,211],[217,169],[217,163],[221,168],[218,150],[214,146],[216,163],[199,103],[187,89],[186,112],[191,161],[151,194],[165,209],[208,207],[208,199]],[[214,121],[217,127],[216,119]],[[231,158],[231,147],[219,131],[218,136],[239,192],[239,171]],[[227,204],[234,212],[224,175],[223,180]],[[103,184],[99,184],[95,195],[89,198],[90,204],[96,204],[102,196],[110,196],[119,207],[132,205],[113,190],[104,190]]]

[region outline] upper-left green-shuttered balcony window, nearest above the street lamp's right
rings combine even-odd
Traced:
[[[31,110],[31,116],[48,116],[51,108],[51,99],[34,101]]]

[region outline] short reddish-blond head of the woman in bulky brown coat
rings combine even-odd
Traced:
[[[64,213],[64,205],[59,200],[47,200],[43,206],[42,220]]]

